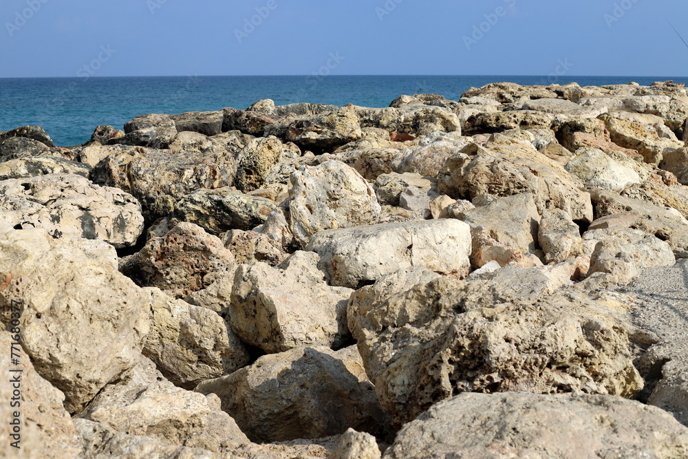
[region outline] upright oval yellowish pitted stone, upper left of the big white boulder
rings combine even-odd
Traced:
[[[248,192],[263,186],[270,169],[281,159],[282,149],[282,142],[275,137],[251,140],[239,156],[237,188]]]

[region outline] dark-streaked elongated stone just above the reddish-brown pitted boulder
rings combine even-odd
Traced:
[[[176,215],[193,222],[213,235],[233,229],[250,230],[264,224],[277,203],[235,189],[201,189],[184,196]]]

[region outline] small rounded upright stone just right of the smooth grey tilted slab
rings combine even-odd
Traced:
[[[537,239],[545,253],[546,264],[583,255],[581,229],[571,220],[571,215],[561,209],[545,211]]]

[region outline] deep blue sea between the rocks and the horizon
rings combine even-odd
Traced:
[[[122,129],[150,113],[179,114],[224,107],[246,109],[270,98],[277,105],[310,102],[387,107],[402,94],[458,100],[470,87],[510,81],[522,85],[611,85],[635,81],[688,83],[671,76],[166,76],[116,78],[0,78],[0,131],[41,125],[56,145],[87,142],[98,125]]]

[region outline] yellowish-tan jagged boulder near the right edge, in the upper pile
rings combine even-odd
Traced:
[[[684,147],[659,116],[614,111],[600,118],[614,143],[637,150],[645,162],[659,164],[664,153]]]

